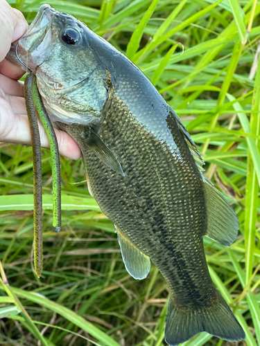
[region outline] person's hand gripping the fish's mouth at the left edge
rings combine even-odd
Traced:
[[[28,24],[19,10],[0,0],[0,142],[31,145],[31,133],[24,101],[24,71],[5,59],[10,44],[24,35]],[[49,148],[48,138],[39,122],[42,147]],[[55,129],[60,154],[78,160],[80,148],[64,131]]]

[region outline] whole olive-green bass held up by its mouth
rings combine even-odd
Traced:
[[[243,340],[203,246],[204,236],[232,244],[239,221],[203,175],[202,156],[175,111],[128,57],[49,5],[18,43],[52,122],[81,149],[89,193],[115,225],[126,271],[144,279],[151,260],[168,284],[166,343],[200,331]],[[14,47],[8,58],[20,64]]]

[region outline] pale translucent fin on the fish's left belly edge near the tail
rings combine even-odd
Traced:
[[[116,228],[116,233],[125,269],[134,279],[144,279],[150,271],[150,258],[139,251],[118,228]]]

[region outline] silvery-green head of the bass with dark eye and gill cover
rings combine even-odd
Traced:
[[[36,75],[53,121],[84,125],[102,121],[103,109],[110,100],[111,78],[95,51],[94,35],[71,15],[42,5],[19,39],[19,59]],[[8,58],[19,64],[15,46],[16,42]],[[21,67],[26,71],[26,66]]]

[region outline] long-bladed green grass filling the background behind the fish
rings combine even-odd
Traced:
[[[10,3],[31,23],[45,1]],[[205,238],[211,277],[245,329],[240,345],[259,345],[260,65],[252,73],[259,1],[49,3],[85,21],[131,57],[191,131],[206,162],[205,175],[225,194],[241,225],[230,248]],[[81,161],[61,158],[66,226],[52,233],[48,150],[42,150],[42,159],[44,271],[39,280],[33,273],[31,148],[0,145],[1,345],[37,345],[37,340],[50,346],[164,345],[168,290],[162,275],[152,266],[146,280],[136,281],[125,271],[114,226],[82,182]],[[202,333],[184,345],[227,343]]]

